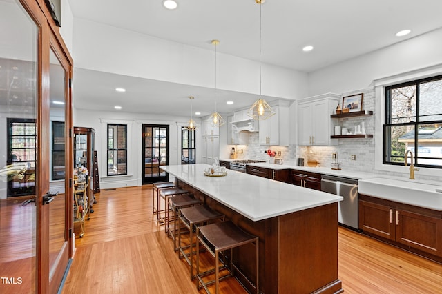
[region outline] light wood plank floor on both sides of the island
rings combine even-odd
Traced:
[[[189,266],[157,226],[151,197],[151,186],[102,190],[84,237],[76,239],[63,293],[198,293]],[[345,293],[442,293],[441,264],[345,228],[339,278]],[[245,293],[234,279],[220,286],[222,293]]]

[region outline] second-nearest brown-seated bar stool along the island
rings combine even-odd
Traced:
[[[189,231],[189,246],[181,246],[181,224],[178,224],[178,257],[186,259],[186,262],[191,266],[191,280],[195,278],[193,276],[193,230],[196,226],[202,224],[209,224],[215,220],[224,222],[224,215],[212,210],[208,206],[198,205],[180,209],[178,218],[186,226]],[[190,252],[184,251],[189,248]]]

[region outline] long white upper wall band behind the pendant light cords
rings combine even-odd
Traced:
[[[205,50],[101,23],[74,19],[76,68],[213,87],[213,50]],[[218,88],[259,94],[260,63],[218,53]],[[307,74],[262,64],[262,95],[307,95]]]

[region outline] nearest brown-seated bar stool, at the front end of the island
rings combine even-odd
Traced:
[[[196,228],[196,277],[197,277],[197,289],[200,290],[201,287],[206,290],[207,293],[210,294],[209,289],[207,286],[215,283],[215,291],[216,294],[220,293],[220,280],[224,280],[227,277],[230,277],[232,275],[232,270],[235,269],[235,271],[238,271],[243,277],[245,277],[244,274],[241,273],[241,271],[233,264],[233,248],[236,248],[238,246],[242,246],[244,244],[254,243],[256,246],[256,293],[259,293],[259,259],[258,259],[258,246],[259,241],[258,237],[255,237],[253,235],[250,235],[249,233],[246,233],[242,231],[238,226],[233,224],[232,222],[216,222],[214,224],[208,224],[206,226],[198,226]],[[200,273],[200,248],[199,244],[201,244],[206,248],[207,251],[211,253],[213,257],[215,257],[215,268],[211,269],[209,271],[205,271],[204,273]],[[223,264],[221,269],[228,269],[229,274],[224,275],[220,277],[220,252],[222,252],[223,256],[225,257],[224,251],[227,249],[231,250],[230,253],[230,267],[226,264]],[[204,282],[202,277],[205,275],[209,275],[215,271],[215,280]],[[247,278],[247,277],[245,277]],[[249,280],[250,282],[250,280]],[[200,286],[200,283],[202,286]],[[250,282],[250,284],[253,284]]]

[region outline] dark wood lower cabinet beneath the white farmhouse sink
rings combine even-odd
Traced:
[[[359,228],[414,253],[442,262],[442,212],[360,195]]]

